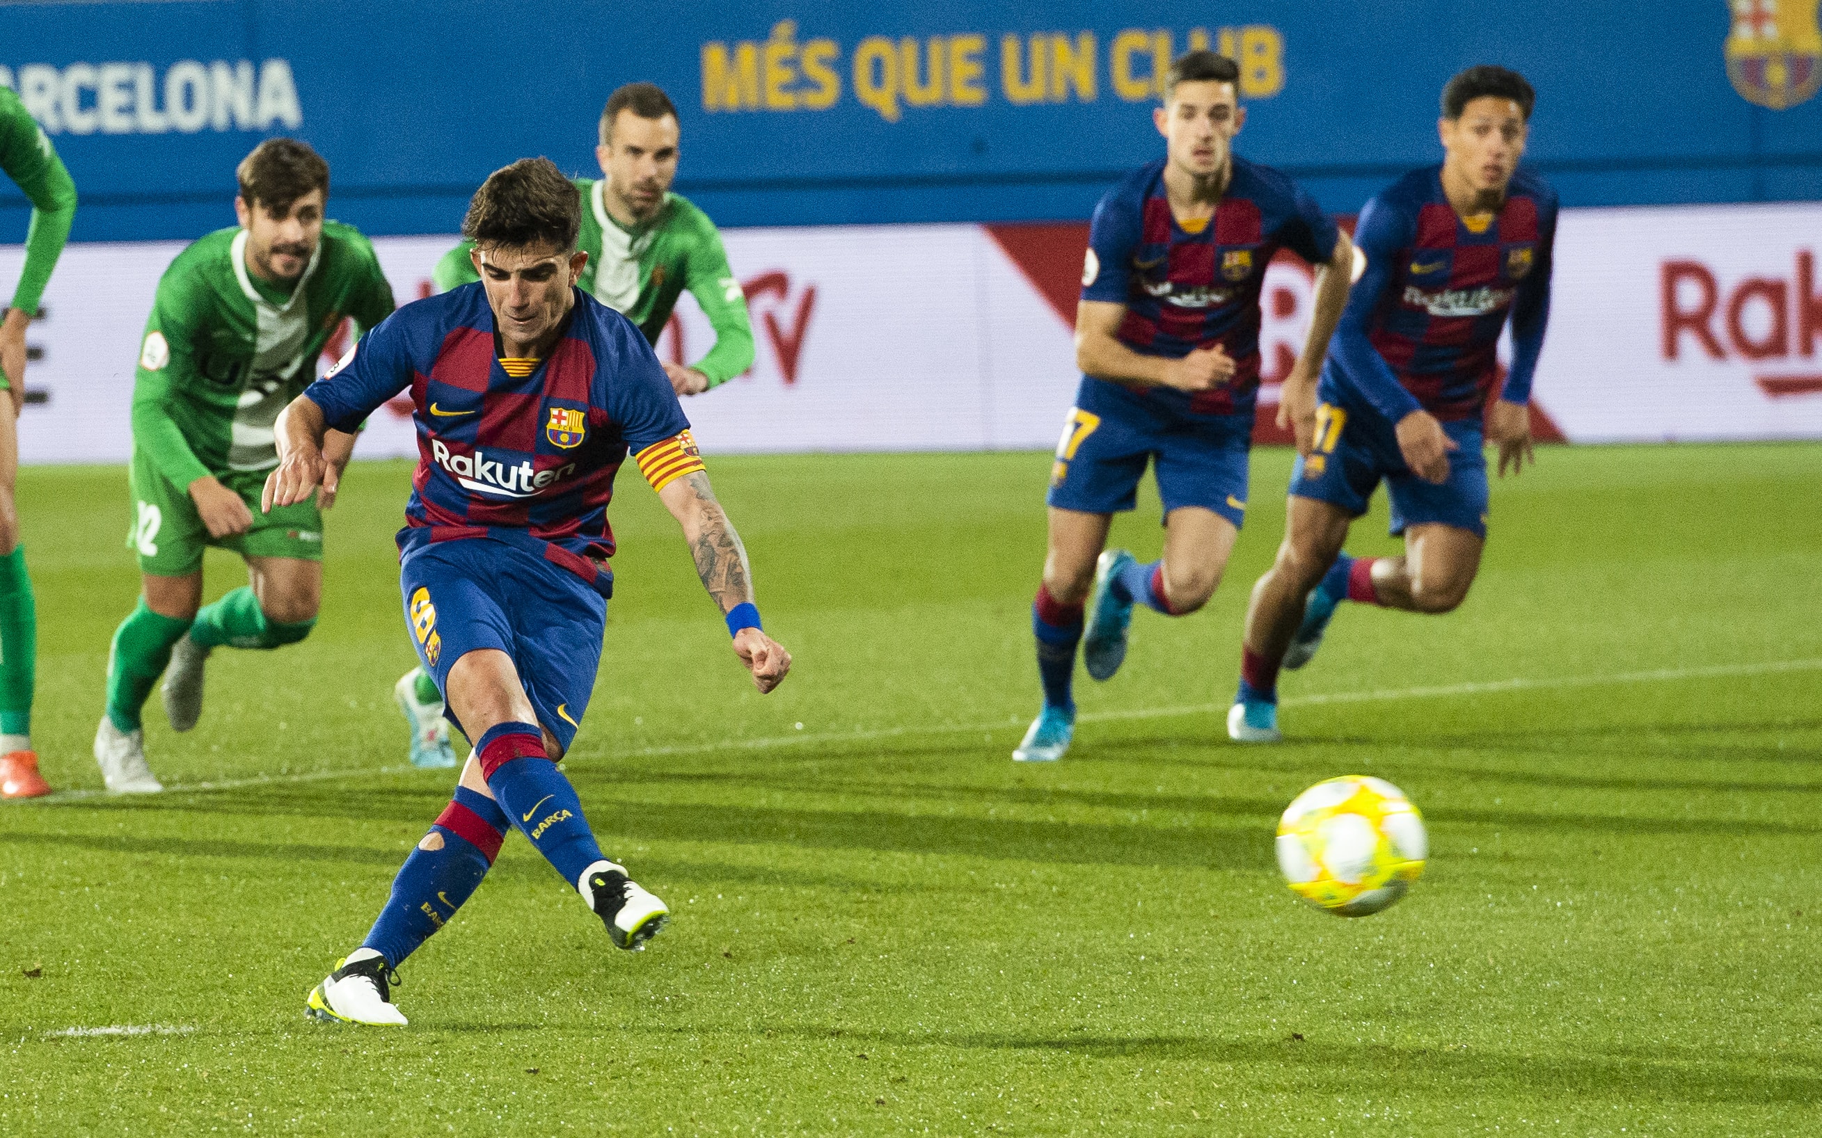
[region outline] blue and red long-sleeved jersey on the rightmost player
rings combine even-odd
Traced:
[[[1500,375],[1500,331],[1512,320],[1501,399],[1530,399],[1551,313],[1556,191],[1520,169],[1479,228],[1456,215],[1443,168],[1416,169],[1361,209],[1354,244],[1366,271],[1348,295],[1325,381],[1397,422],[1416,410],[1478,419]]]

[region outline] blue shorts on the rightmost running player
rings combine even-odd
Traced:
[[[1478,419],[1445,422],[1459,450],[1448,452],[1448,481],[1427,483],[1405,466],[1397,433],[1383,415],[1323,402],[1315,408],[1315,450],[1290,472],[1292,497],[1366,513],[1372,492],[1385,481],[1392,499],[1392,535],[1405,526],[1445,524],[1487,537],[1487,455]]]

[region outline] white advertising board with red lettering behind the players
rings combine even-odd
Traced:
[[[1077,384],[1079,266],[986,226],[731,229],[756,359],[685,401],[709,453],[998,450],[1055,442]],[[1048,237],[1086,240],[1086,228]],[[401,302],[428,295],[454,237],[377,239]],[[133,361],[164,266],[182,246],[73,244],[33,324],[24,462],[118,462],[131,450]],[[1545,421],[1574,442],[1822,437],[1822,204],[1569,209],[1556,239]],[[24,257],[0,246],[0,282]],[[1266,381],[1301,344],[1310,280],[1274,264]],[[712,342],[685,299],[665,359]],[[328,361],[324,362],[324,366]],[[1275,391],[1263,395],[1266,415]],[[1540,424],[1541,426],[1541,424]],[[1540,433],[1552,433],[1549,430]],[[374,417],[364,455],[414,455],[410,421]]]

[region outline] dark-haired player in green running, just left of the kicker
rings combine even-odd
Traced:
[[[220,645],[277,648],[310,634],[322,595],[322,517],[353,435],[330,433],[319,501],[261,513],[279,464],[273,421],[310,381],[350,317],[364,333],[392,315],[374,246],[322,220],[330,168],[293,138],[268,138],[239,169],[241,224],[197,240],[159,279],[133,384],[133,528],[144,595],[113,637],[107,714],[95,761],[109,790],[162,790],[146,765],[140,708],[164,679],[177,730],[202,714],[202,665]],[[202,550],[233,550],[250,584],[202,608]]]

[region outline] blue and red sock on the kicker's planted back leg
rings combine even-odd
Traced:
[[[507,838],[507,814],[479,790],[456,788],[412,856],[392,879],[392,896],[361,941],[399,967],[448,923],[486,876]]]

